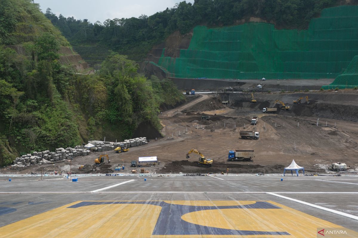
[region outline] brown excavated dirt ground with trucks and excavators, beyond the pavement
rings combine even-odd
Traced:
[[[293,100],[309,96],[309,104],[294,105]],[[188,96],[192,97],[192,96]],[[333,162],[346,163],[358,171],[358,92],[357,90],[312,91],[297,93],[255,93],[257,103],[251,103],[248,93],[211,93],[195,96],[185,105],[159,115],[164,138],[151,138],[148,145],[130,148],[129,152],[107,152],[111,163],[92,167],[99,153],[76,157],[73,173],[107,173],[118,164],[131,172],[130,161],[141,156],[157,156],[159,166],[145,167],[150,173],[282,173],[292,159],[305,167],[306,173],[325,172]],[[290,105],[288,111],[262,113],[263,107],[279,107],[275,100]],[[221,101],[228,100],[228,105]],[[202,115],[211,116],[202,120]],[[258,124],[250,125],[258,116]],[[317,120],[318,121],[318,126]],[[259,140],[244,140],[240,130],[260,132]],[[180,132],[180,134],[179,134]],[[186,153],[195,148],[214,163],[210,168],[197,166],[199,155]],[[251,161],[228,161],[229,150],[255,150]],[[85,170],[77,169],[89,164]],[[8,167],[9,168],[9,167]],[[31,173],[69,170],[69,162],[31,166],[22,171],[2,169],[5,173]]]

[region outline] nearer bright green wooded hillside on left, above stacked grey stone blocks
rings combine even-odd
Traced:
[[[184,98],[114,52],[97,74],[75,74],[60,63],[61,46],[70,44],[32,0],[1,0],[0,165],[103,136],[130,138],[140,123],[159,130],[160,104]]]

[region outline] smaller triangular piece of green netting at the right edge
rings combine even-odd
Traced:
[[[330,85],[323,88],[352,88],[355,86],[358,86],[358,55],[354,56],[353,60],[350,61],[343,74],[338,75]]]

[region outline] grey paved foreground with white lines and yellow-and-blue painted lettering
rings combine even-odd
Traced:
[[[357,186],[357,176],[1,177],[0,237],[358,237]]]

